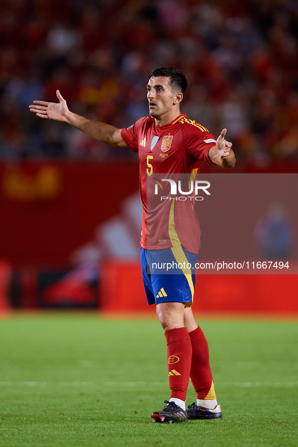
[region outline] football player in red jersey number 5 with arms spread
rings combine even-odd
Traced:
[[[148,304],[156,304],[157,317],[165,333],[171,390],[169,401],[164,401],[167,405],[151,415],[153,422],[160,423],[221,417],[208,344],[191,309],[200,235],[194,208],[190,200],[176,201],[168,189],[168,194],[163,193],[169,196],[165,204],[153,203],[154,195],[148,195],[151,183],[158,184],[162,180],[157,178],[160,173],[166,173],[167,177],[189,174],[194,179],[202,161],[224,168],[235,164],[232,145],[224,139],[226,129],[215,140],[204,126],[181,114],[180,103],[186,89],[187,80],[181,71],[171,67],[154,69],[147,85],[149,116],[126,129],[72,113],[58,90],[58,103],[34,101],[30,105],[30,111],[41,118],[65,121],[103,143],[139,152],[142,274]],[[167,187],[169,184],[167,182]],[[181,265],[186,263],[186,268],[175,274],[165,274],[153,267],[168,260]],[[197,401],[186,409],[189,377]]]

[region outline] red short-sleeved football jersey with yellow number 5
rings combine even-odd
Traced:
[[[186,114],[164,126],[157,126],[151,116],[141,118],[122,129],[121,136],[132,151],[139,152],[143,206],[141,246],[161,250],[182,244],[187,251],[198,253],[200,226],[194,201],[179,201],[171,196],[170,182],[161,182],[164,176],[160,174],[167,178],[172,175],[174,180],[181,178],[183,191],[189,191],[186,178],[190,175],[186,174],[193,174],[194,179],[202,161],[212,163],[208,152],[216,140]],[[160,195],[156,195],[156,184],[161,186],[162,196],[167,199],[161,200]]]

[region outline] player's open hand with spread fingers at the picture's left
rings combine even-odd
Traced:
[[[58,103],[46,101],[33,101],[34,104],[29,105],[30,112],[36,113],[40,118],[54,119],[55,121],[66,122],[69,108],[66,100],[62,97],[59,90],[56,91]]]

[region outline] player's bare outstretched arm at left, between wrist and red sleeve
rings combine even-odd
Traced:
[[[72,112],[68,112],[66,122],[95,140],[111,146],[118,145],[117,141],[115,141],[115,133],[119,131],[117,127],[104,122],[92,121]]]

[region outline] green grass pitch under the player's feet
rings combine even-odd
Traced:
[[[253,447],[298,445],[294,322],[202,321],[223,418],[153,424],[169,398],[154,320],[96,313],[0,321],[0,445]],[[195,401],[190,384],[187,404]]]

